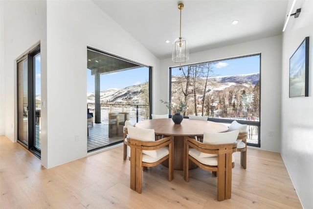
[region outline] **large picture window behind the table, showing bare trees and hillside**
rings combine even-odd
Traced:
[[[184,116],[247,124],[248,144],[260,146],[260,60],[254,54],[170,68],[170,101],[187,105]]]

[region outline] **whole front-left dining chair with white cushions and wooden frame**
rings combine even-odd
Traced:
[[[165,160],[169,161],[168,181],[172,181],[174,137],[155,141],[154,129],[142,129],[131,125],[128,125],[127,129],[127,142],[131,147],[131,188],[141,193],[142,168],[155,166]]]

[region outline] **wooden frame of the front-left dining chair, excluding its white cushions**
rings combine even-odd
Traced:
[[[142,141],[127,138],[127,143],[131,147],[131,189],[141,193],[142,167],[152,167],[168,159],[168,181],[174,179],[174,137],[166,137],[157,141]],[[169,147],[169,154],[154,163],[142,162],[142,150],[157,150],[161,147]]]

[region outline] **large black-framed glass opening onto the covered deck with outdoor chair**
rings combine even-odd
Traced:
[[[126,120],[151,115],[152,67],[87,48],[87,150],[123,142]]]

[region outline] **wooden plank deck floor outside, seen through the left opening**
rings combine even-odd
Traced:
[[[123,141],[123,125],[118,126],[116,133],[115,127],[109,129],[109,124],[94,123],[93,126],[89,126],[87,151],[94,151],[120,141]]]

